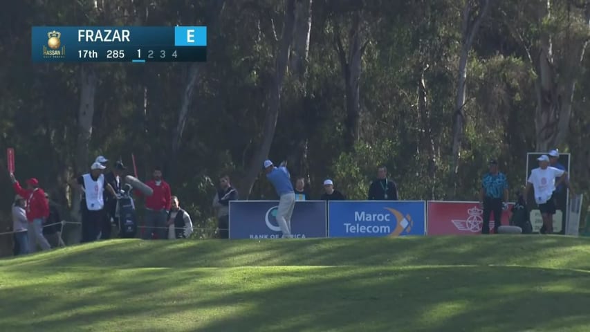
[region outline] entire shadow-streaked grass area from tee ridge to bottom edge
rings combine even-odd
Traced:
[[[120,240],[0,261],[2,331],[590,331],[590,239]]]

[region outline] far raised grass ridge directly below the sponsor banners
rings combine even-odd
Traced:
[[[590,270],[589,239],[539,236],[306,240],[113,240],[19,259],[0,268],[39,266],[230,267],[524,265]]]

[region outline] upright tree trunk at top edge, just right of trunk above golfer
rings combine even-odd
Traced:
[[[289,67],[299,81],[304,83],[306,62],[309,53],[309,37],[311,34],[311,4],[313,0],[297,0],[295,3],[295,36],[293,56]]]

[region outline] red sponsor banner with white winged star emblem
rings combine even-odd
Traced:
[[[502,212],[502,225],[508,225],[510,209]],[[481,234],[483,209],[479,202],[429,201],[427,202],[427,235]],[[494,215],[490,216],[490,233],[494,232]]]

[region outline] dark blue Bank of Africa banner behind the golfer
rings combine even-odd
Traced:
[[[278,239],[278,201],[230,201],[230,239]],[[291,234],[297,238],[326,237],[325,201],[297,201]]]

